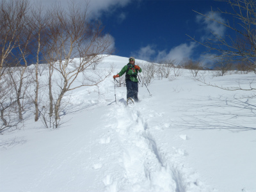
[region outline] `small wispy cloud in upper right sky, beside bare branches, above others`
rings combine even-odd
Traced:
[[[225,22],[225,19],[221,17],[220,13],[208,12],[205,15],[207,17],[202,15],[196,16],[196,22],[204,25],[204,31],[206,34],[205,36],[202,36],[202,40],[205,40],[205,38],[211,38],[212,33],[223,37],[227,28],[218,22]]]

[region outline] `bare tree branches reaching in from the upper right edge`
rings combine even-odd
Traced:
[[[212,13],[222,13],[231,16],[233,22],[216,20],[213,17],[198,13],[205,19],[212,20],[230,29],[236,35],[220,36],[212,33],[213,38],[207,39],[205,42],[199,42],[204,45],[209,51],[220,52],[220,56],[228,56],[230,61],[246,60],[251,63],[253,68],[256,67],[256,3],[255,0],[220,0],[230,4],[232,12],[223,11],[220,8]]]

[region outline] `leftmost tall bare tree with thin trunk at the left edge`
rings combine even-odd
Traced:
[[[10,63],[15,66],[20,66],[20,62],[24,67],[8,68],[9,81],[13,81],[13,87],[17,95],[16,102],[19,106],[19,118],[22,120],[22,86],[24,82],[24,74],[26,71],[28,44],[31,33],[26,23],[26,15],[28,13],[28,1],[2,1],[1,4],[1,24],[0,24],[0,47],[1,61],[0,70],[8,66]],[[6,66],[4,66],[6,65]],[[20,79],[18,79],[19,77]],[[0,77],[1,78],[1,77]]]

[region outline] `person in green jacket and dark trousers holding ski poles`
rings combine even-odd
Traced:
[[[122,70],[116,75],[113,76],[121,77],[125,74],[125,83],[127,88],[127,99],[132,98],[135,102],[138,102],[138,72],[141,72],[141,68],[138,65],[135,65],[134,57],[129,58],[129,63],[125,65]]]

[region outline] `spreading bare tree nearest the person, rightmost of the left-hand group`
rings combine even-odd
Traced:
[[[55,122],[60,119],[61,100],[65,93],[82,86],[97,85],[110,75],[110,72],[95,72],[93,77],[86,74],[88,67],[93,63],[99,63],[112,51],[111,40],[108,35],[103,34],[104,28],[101,24],[89,23],[87,8],[88,4],[82,8],[71,1],[68,11],[58,5],[51,11],[48,33],[51,40],[47,45],[49,49],[45,58],[61,77],[58,95],[53,102]],[[82,80],[79,79],[79,75],[83,75]],[[74,84],[76,81],[80,83]],[[54,127],[58,127],[58,124]]]

